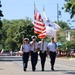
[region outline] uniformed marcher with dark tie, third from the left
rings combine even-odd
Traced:
[[[44,65],[47,56],[47,42],[45,42],[44,39],[41,39],[41,41],[38,43],[38,46],[40,48],[41,67],[42,71],[44,71]]]

